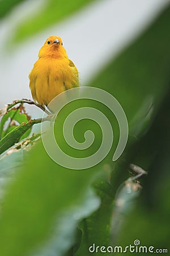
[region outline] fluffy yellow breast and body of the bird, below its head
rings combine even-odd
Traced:
[[[33,100],[48,105],[59,93],[79,86],[78,70],[69,59],[39,58],[29,74]]]

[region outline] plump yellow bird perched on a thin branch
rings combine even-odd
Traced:
[[[29,73],[33,100],[48,105],[65,90],[79,86],[78,70],[62,45],[59,36],[50,36],[39,51],[39,59]]]

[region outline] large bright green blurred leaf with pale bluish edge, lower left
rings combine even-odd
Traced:
[[[49,248],[55,255],[66,252],[74,244],[77,222],[99,207],[90,189],[94,175],[94,170],[58,166],[37,143],[3,199],[0,254],[24,256],[34,251],[46,256],[51,255]],[[46,245],[48,254],[42,254],[41,247],[37,251],[40,245],[43,253]]]

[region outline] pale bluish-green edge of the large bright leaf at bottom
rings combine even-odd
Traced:
[[[100,200],[87,187],[87,191],[84,191],[78,203],[75,204],[73,200],[71,207],[67,207],[67,212],[64,211],[57,216],[52,234],[45,245],[41,245],[33,256],[59,256],[65,254],[68,249],[67,255],[73,255],[78,249],[82,237],[82,231],[76,228],[78,221],[94,212],[99,204]]]

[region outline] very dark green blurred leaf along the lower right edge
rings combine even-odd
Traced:
[[[117,234],[117,241],[121,241],[122,246],[133,244],[134,240],[138,239],[141,241],[141,246],[154,246],[154,251],[170,249],[169,96],[170,90],[148,133],[138,143],[138,151],[135,152],[135,162],[146,166],[148,175],[143,180],[145,189],[136,207],[129,216],[126,216],[121,233]],[[130,252],[126,254],[130,255]]]

